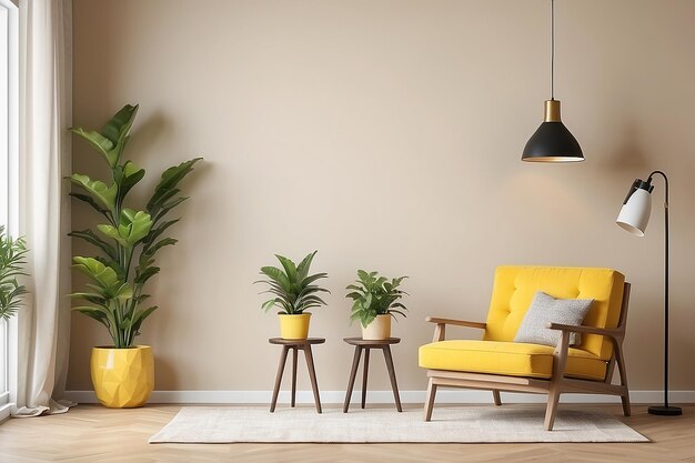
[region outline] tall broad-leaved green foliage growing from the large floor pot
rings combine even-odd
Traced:
[[[84,292],[71,294],[84,301],[73,310],[102,323],[117,349],[131,346],[142,322],[157,310],[157,305],[143,308],[149,298],[143,289],[160,271],[155,264],[158,251],[178,241],[165,232],[180,219],[168,220],[167,214],[188,199],[179,194],[179,182],[202,159],[167,169],[144,210],[127,207],[128,193],[145,174],[134,162],[122,160],[138,107],[127,104],[101,131],[70,129],[101,155],[111,171],[111,178],[104,181],[80,173],[69,178],[83,191],[70,195],[89,204],[103,218],[93,229],[70,233],[99,251],[95,256],[73,258],[73,268],[90,280]]]

